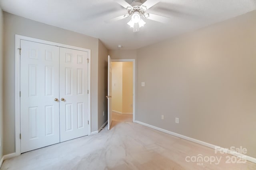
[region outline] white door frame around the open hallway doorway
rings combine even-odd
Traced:
[[[132,82],[132,84],[133,84],[133,103],[132,103],[132,122],[135,122],[135,99],[136,99],[136,89],[135,89],[135,87],[136,87],[136,78],[135,78],[135,71],[136,71],[136,68],[135,68],[135,66],[136,66],[136,63],[135,63],[135,59],[112,59],[112,62],[132,62],[133,63],[133,65],[132,65],[132,69],[133,69],[133,71],[132,71],[132,79],[133,79],[133,82]]]

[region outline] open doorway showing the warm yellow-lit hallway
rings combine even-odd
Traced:
[[[134,122],[134,61],[112,60],[112,120]]]

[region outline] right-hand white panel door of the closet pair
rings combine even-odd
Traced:
[[[88,52],[60,48],[60,142],[88,135]]]

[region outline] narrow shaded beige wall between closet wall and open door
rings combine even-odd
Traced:
[[[99,40],[98,58],[98,130],[108,120],[108,50]],[[104,112],[104,116],[103,116]]]

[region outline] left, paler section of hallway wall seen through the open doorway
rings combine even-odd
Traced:
[[[112,110],[122,113],[123,63],[112,62]]]

